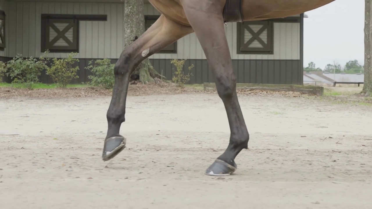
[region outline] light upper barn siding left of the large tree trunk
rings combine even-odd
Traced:
[[[4,1],[4,0],[1,0]],[[123,3],[8,2],[8,57],[41,55],[41,14],[106,14],[107,22],[81,21],[77,58],[118,58],[124,48]],[[1,55],[1,54],[0,54]],[[50,53],[63,58],[67,53]]]

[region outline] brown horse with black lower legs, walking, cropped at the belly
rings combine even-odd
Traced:
[[[248,148],[249,133],[238,102],[232,60],[224,23],[298,15],[334,0],[148,0],[161,15],[137,40],[126,47],[114,67],[115,84],[107,111],[108,131],[102,160],[108,161],[126,146],[119,134],[125,122],[129,78],[145,58],[190,33],[196,34],[211,68],[218,96],[230,125],[230,142],[206,169],[210,176],[228,176],[237,169],[235,158]]]

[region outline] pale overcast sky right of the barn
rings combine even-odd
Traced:
[[[304,65],[316,67],[358,60],[364,64],[364,4],[365,0],[335,0],[305,12]]]

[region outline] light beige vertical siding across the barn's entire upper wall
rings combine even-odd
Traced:
[[[41,14],[106,14],[107,22],[80,22],[80,53],[78,58],[119,58],[124,49],[124,4],[123,3],[50,3],[50,2],[6,2],[0,0],[0,6],[9,4],[7,14],[7,50],[3,55],[15,57],[39,57],[41,54]],[[151,5],[145,4],[146,15],[160,15]],[[7,12],[8,13],[8,12]],[[233,60],[299,60],[300,24],[274,23],[274,54],[237,54],[237,24],[228,23],[225,27],[230,54]],[[195,33],[177,41],[177,54],[155,54],[150,59],[206,59]],[[62,58],[66,53],[51,53],[50,57]]]

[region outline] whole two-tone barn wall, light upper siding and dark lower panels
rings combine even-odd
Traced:
[[[3,6],[4,5],[4,6]],[[68,3],[68,2],[8,2],[6,8],[7,48],[0,57],[39,57],[41,54],[41,14],[106,14],[107,22],[80,22],[79,76],[73,83],[87,81],[84,67],[90,60],[110,58],[115,62],[124,46],[123,3]],[[151,4],[145,4],[145,15],[160,15]],[[237,54],[237,23],[225,27],[235,75],[239,83],[302,84],[301,24],[274,23],[274,53],[272,55]],[[9,36],[12,34],[12,36]],[[213,82],[208,63],[195,33],[177,42],[177,54],[155,54],[150,57],[154,68],[171,78],[171,59],[187,59],[185,68],[194,64],[190,83]],[[3,53],[3,54],[1,54]],[[63,58],[66,53],[50,53],[49,57]],[[44,83],[51,83],[43,75]]]

